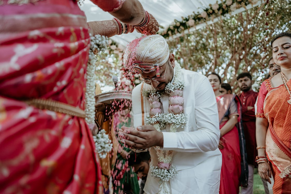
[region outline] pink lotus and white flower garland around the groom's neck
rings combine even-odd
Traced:
[[[173,133],[175,133],[178,128],[183,127],[188,120],[187,116],[183,113],[182,106],[184,103],[182,97],[184,86],[184,81],[181,81],[181,66],[179,63],[175,62],[173,83],[168,83],[164,92],[159,92],[152,87],[147,90],[143,89],[143,97],[147,98],[150,102],[150,113],[146,117],[145,123],[153,125],[157,131],[161,131],[166,125],[170,125],[170,131]],[[160,98],[165,94],[170,96],[169,113],[162,113]],[[151,165],[150,173],[152,177],[160,180],[158,194],[168,194],[170,192],[166,182],[173,179],[173,177],[178,174],[176,166],[171,164],[173,150],[166,151],[165,156],[164,151],[159,146],[156,146],[156,151],[159,163],[155,167]]]

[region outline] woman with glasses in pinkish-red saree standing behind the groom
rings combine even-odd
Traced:
[[[221,133],[218,146],[222,153],[219,193],[239,193],[239,186],[246,186],[248,182],[240,102],[236,95],[228,93],[221,95],[219,90],[221,78],[218,74],[209,74],[208,80],[216,95]]]

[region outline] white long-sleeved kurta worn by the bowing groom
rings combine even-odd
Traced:
[[[189,70],[181,70],[185,81],[183,90],[184,114],[188,121],[183,128],[171,133],[170,127],[163,129],[163,150],[174,150],[171,163],[176,165],[178,175],[168,181],[172,194],[216,194],[219,192],[222,157],[218,149],[219,118],[217,103],[212,87],[204,75]],[[149,114],[149,102],[141,95],[139,84],[132,91],[132,111],[134,127],[144,124]],[[168,95],[161,97],[164,113],[168,113]],[[142,111],[143,110],[143,111]],[[155,148],[150,148],[151,163],[158,163]],[[159,179],[148,174],[144,191],[158,192]]]

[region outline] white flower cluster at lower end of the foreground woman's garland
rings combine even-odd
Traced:
[[[96,150],[100,158],[106,158],[108,152],[111,151],[113,145],[109,136],[105,133],[105,130],[102,129],[96,136],[93,136],[95,142]]]

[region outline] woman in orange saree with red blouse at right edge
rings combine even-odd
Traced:
[[[281,73],[270,79],[269,87],[261,87],[258,96],[258,171],[268,181],[272,171],[274,194],[291,193],[291,33],[279,34],[271,45]]]

